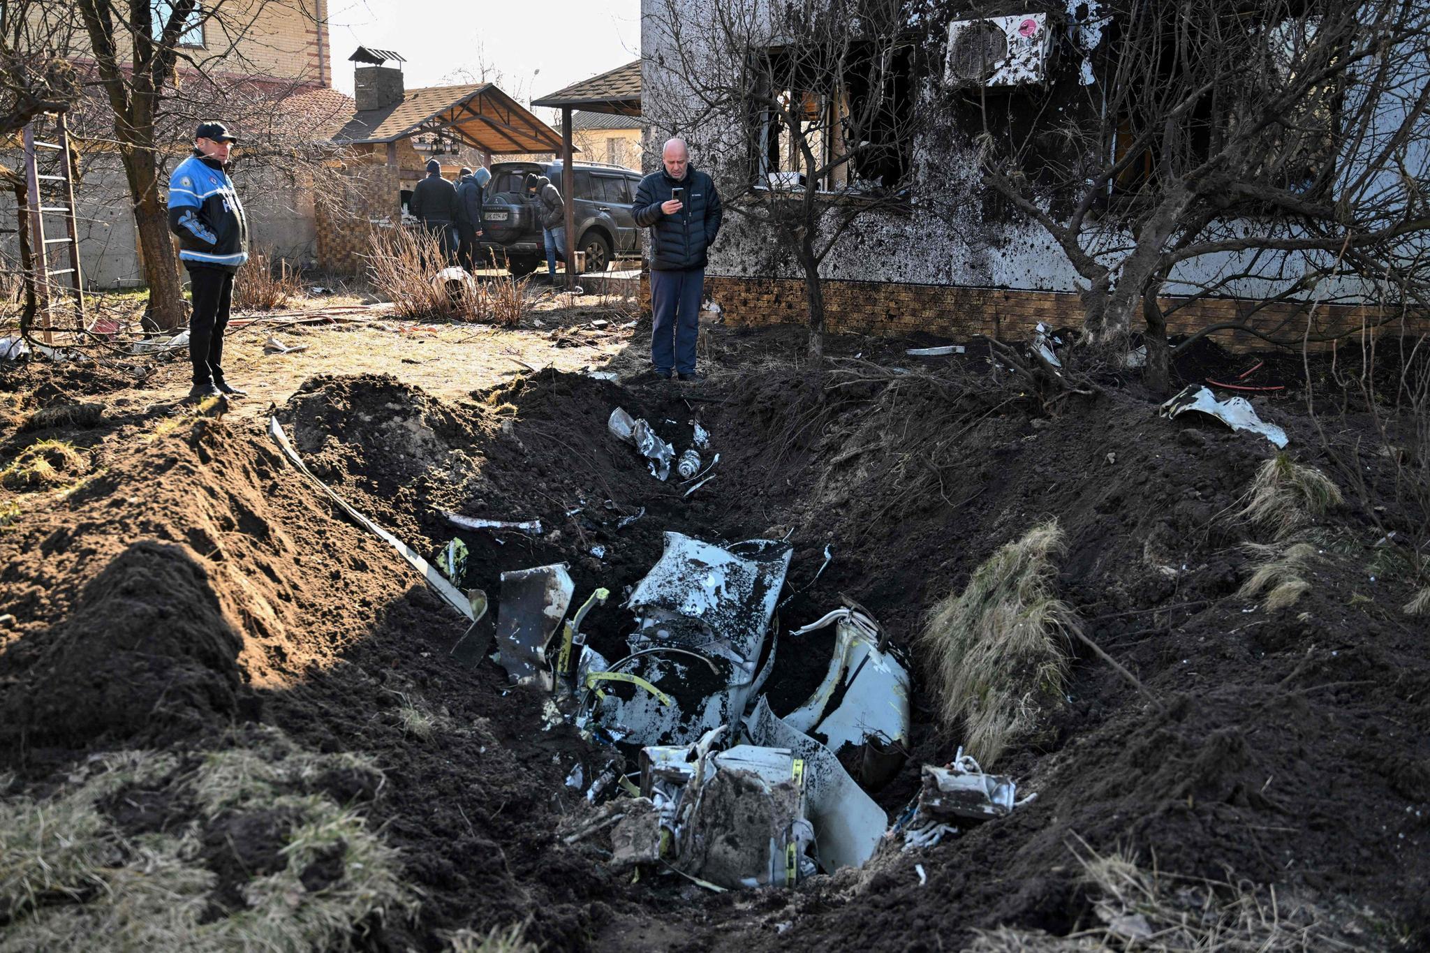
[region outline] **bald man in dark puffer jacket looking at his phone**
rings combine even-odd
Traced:
[[[695,340],[705,291],[705,251],[719,234],[719,193],[691,166],[684,139],[661,150],[661,171],[635,191],[635,223],[651,229],[651,363],[669,379],[695,380]]]

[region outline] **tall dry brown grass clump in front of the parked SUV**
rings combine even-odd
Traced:
[[[495,266],[495,261],[493,261]],[[526,279],[470,276],[440,280],[446,260],[438,240],[419,230],[375,231],[368,269],[376,293],[413,320],[490,321],[512,327],[526,313]]]

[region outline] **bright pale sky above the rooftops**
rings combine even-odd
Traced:
[[[359,46],[405,56],[408,89],[478,81],[485,64],[488,79],[522,101],[641,53],[641,0],[327,0],[327,14],[333,86],[347,94],[347,57]]]

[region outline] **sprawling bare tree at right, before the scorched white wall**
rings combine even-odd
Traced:
[[[1087,340],[1124,339],[1140,316],[1148,383],[1165,389],[1167,317],[1201,297],[1360,300],[1389,276],[1423,296],[1430,7],[1081,10],[1065,69],[1044,87],[1008,96],[975,83],[950,101],[981,117],[985,181],[1083,279]],[[1304,324],[1244,319],[1201,333],[1228,327],[1287,346],[1304,337]]]

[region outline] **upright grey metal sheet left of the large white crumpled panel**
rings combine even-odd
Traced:
[[[551,690],[546,643],[566,617],[576,586],[565,563],[502,573],[496,642],[513,684]]]

